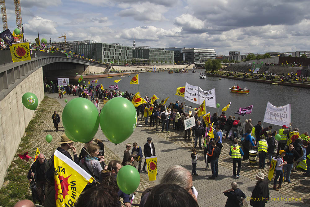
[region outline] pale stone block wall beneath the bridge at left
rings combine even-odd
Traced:
[[[20,139],[24,136],[25,128],[35,113],[22,104],[21,97],[26,92],[34,93],[40,104],[44,98],[42,68],[30,74],[0,101],[0,186],[3,184]]]

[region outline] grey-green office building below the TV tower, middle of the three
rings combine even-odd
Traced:
[[[174,52],[158,49],[158,48],[150,48],[148,46],[135,47],[132,50],[132,58],[136,62],[139,59],[149,60],[149,64],[151,65],[166,65],[173,64]]]

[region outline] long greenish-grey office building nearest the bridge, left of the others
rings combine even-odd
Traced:
[[[119,43],[79,43],[74,45],[75,52],[86,58],[101,62],[130,63],[132,47]]]

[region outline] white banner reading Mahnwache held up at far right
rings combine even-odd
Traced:
[[[285,106],[273,106],[268,101],[263,122],[290,127],[290,104]]]

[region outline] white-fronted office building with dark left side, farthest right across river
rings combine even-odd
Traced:
[[[184,48],[184,62],[187,64],[198,64],[208,59],[215,59],[216,52],[214,49],[203,48]]]

